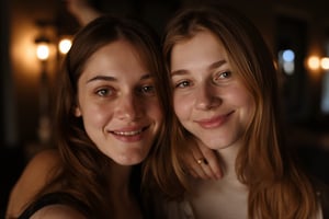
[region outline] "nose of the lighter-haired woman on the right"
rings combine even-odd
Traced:
[[[216,94],[211,84],[201,84],[195,92],[195,107],[205,111],[220,105],[222,99]]]

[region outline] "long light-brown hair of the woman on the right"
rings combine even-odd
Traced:
[[[224,5],[191,7],[169,23],[163,53],[170,72],[173,46],[202,31],[212,32],[224,45],[231,70],[239,73],[253,96],[256,112],[246,134],[245,146],[236,160],[236,172],[249,187],[249,218],[311,218],[317,212],[317,196],[310,178],[293,161],[283,138],[280,118],[277,72],[266,43],[256,26],[243,15]],[[182,187],[186,185],[180,163],[180,150],[188,147],[186,130],[174,122],[171,157]],[[168,181],[158,176],[168,194],[182,195]]]

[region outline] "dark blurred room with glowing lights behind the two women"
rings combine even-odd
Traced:
[[[219,2],[220,0],[217,0]],[[277,56],[290,145],[313,174],[329,183],[329,1],[222,0],[249,16]],[[102,12],[136,15],[162,33],[192,0],[93,0]],[[63,0],[0,0],[0,217],[22,169],[52,146],[52,83],[59,41],[80,27]],[[36,57],[46,43],[49,56]]]

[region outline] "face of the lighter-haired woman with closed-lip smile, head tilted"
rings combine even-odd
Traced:
[[[211,149],[241,140],[254,103],[215,35],[202,31],[175,44],[171,79],[175,114],[190,132]]]

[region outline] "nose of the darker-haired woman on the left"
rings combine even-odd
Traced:
[[[120,119],[137,120],[143,115],[140,101],[133,94],[121,96],[117,101],[116,114]]]

